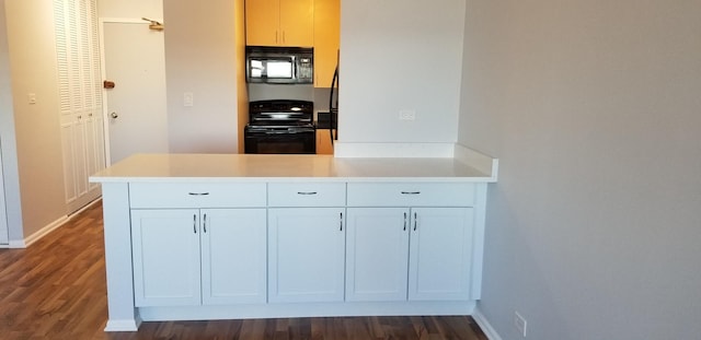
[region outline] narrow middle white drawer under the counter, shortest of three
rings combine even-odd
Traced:
[[[269,207],[343,207],[345,183],[271,183]]]

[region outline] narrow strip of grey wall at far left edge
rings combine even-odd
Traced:
[[[22,207],[20,204],[20,174],[14,129],[14,109],[12,108],[12,86],[5,25],[5,0],[0,0],[0,153],[2,154],[2,176],[9,237],[21,239]]]

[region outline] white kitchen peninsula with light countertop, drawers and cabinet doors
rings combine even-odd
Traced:
[[[103,190],[107,331],[141,320],[469,315],[496,160],[139,154]]]

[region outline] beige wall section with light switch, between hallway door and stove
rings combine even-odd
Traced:
[[[170,151],[237,153],[235,1],[163,3]],[[240,20],[239,20],[240,22]],[[238,45],[237,45],[238,44]],[[184,93],[194,105],[183,106]],[[243,98],[245,101],[245,98]]]

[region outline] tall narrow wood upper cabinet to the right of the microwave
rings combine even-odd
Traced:
[[[330,87],[338,61],[341,1],[314,0],[314,87]]]

